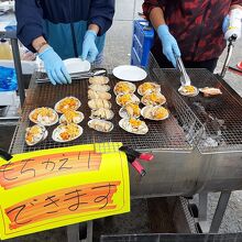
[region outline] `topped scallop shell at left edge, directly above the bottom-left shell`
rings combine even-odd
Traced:
[[[43,116],[41,112],[48,112],[50,114]],[[42,107],[36,108],[29,114],[29,119],[36,124],[41,124],[44,127],[51,127],[58,122],[58,114],[52,108]]]

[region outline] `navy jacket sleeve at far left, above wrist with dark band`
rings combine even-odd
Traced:
[[[16,36],[30,51],[34,38],[44,35],[43,12],[36,0],[15,0]]]

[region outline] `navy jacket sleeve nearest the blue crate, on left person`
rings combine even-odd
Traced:
[[[114,14],[114,0],[92,0],[88,24],[97,24],[100,30],[98,35],[105,34],[112,25]]]

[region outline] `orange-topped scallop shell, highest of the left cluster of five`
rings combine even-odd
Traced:
[[[70,102],[72,103],[68,103]],[[66,103],[65,103],[66,102]],[[81,106],[79,99],[75,98],[75,97],[66,97],[63,98],[62,100],[59,100],[58,102],[56,102],[55,105],[55,110],[58,113],[64,113],[67,110],[77,110],[79,107]]]

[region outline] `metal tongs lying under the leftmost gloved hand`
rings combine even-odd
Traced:
[[[95,68],[90,72],[81,72],[81,73],[73,73],[70,74],[70,78],[73,80],[87,79],[95,76],[107,76],[108,72],[106,68]],[[37,84],[48,82],[50,79],[46,73],[42,73],[41,77],[36,79]]]

